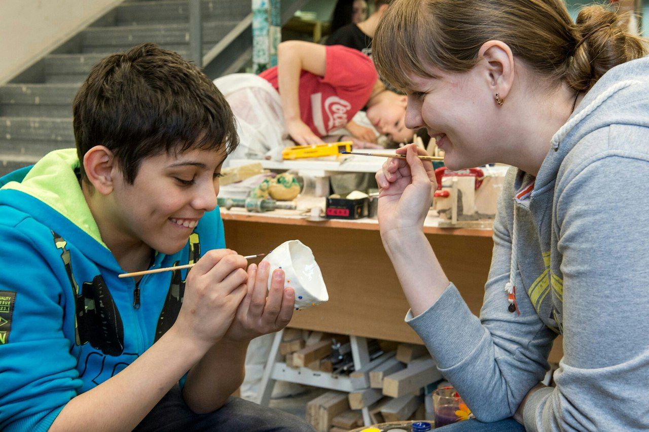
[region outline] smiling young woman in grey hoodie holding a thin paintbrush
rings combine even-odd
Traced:
[[[406,125],[451,169],[513,165],[480,319],[422,232],[430,164],[409,146],[376,174],[406,321],[479,420],[452,427],[649,428],[649,59],[619,22],[589,6],[573,23],[561,0],[397,0],[379,24],[374,62],[408,94]]]

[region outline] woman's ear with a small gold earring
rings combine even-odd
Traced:
[[[514,81],[514,56],[509,45],[499,40],[490,40],[482,44],[478,51],[482,59],[482,73],[489,91],[504,101]]]

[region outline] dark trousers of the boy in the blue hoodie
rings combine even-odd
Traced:
[[[230,398],[208,414],[195,414],[182,399],[178,385],[169,390],[135,431],[313,432],[313,427],[293,414]]]

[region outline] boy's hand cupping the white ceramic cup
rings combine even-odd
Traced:
[[[248,293],[239,305],[232,325],[225,333],[230,341],[251,341],[255,337],[282,330],[293,317],[295,291],[284,289],[284,271],[273,272],[271,289],[268,286],[269,263],[248,267]]]

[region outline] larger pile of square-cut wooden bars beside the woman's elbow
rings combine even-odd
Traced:
[[[361,409],[373,423],[432,418],[423,387],[442,379],[426,347],[399,344],[350,374],[353,392],[326,392],[309,402],[307,420],[319,432],[341,432],[362,426]],[[429,404],[430,407],[430,404]]]

